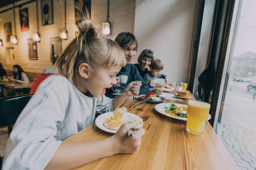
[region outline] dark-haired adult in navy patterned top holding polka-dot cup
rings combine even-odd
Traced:
[[[117,73],[117,77],[120,75],[126,75],[128,76],[127,82],[123,87],[126,87],[127,84],[131,83],[132,81],[141,81],[142,86],[140,87],[140,93],[139,95],[146,94],[149,92],[149,88],[146,85],[143,78],[140,76],[138,69],[136,66],[134,66],[133,58],[136,55],[138,42],[135,36],[132,33],[129,32],[122,32],[117,35],[115,41],[117,44],[123,49],[125,53],[126,58],[126,66],[122,67],[119,73]],[[120,87],[120,80],[117,78],[117,84],[114,84],[113,87],[110,89],[106,89],[106,96],[109,98],[115,98],[115,95],[112,95],[112,93],[118,93],[122,91],[122,87]],[[121,88],[121,89],[120,89]],[[128,102],[128,101],[127,101]]]

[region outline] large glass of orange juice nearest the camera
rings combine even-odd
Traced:
[[[210,104],[197,100],[187,101],[187,131],[201,135],[207,120]]]

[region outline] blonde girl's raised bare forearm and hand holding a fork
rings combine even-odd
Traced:
[[[140,92],[140,87],[142,86],[141,81],[132,81],[131,83],[129,83],[126,87],[130,87],[136,85],[134,87],[131,87],[130,89],[128,89],[126,91],[126,93],[124,95],[119,95],[116,98],[113,99],[112,101],[112,105],[113,105],[113,109],[119,108],[121,104],[123,104],[123,102],[129,97],[129,96],[137,96],[139,95]]]

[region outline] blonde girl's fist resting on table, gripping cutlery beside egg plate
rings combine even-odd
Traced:
[[[127,132],[134,129],[135,136],[129,137]],[[124,123],[112,138],[114,153],[134,153],[140,148],[141,137],[145,134],[145,129],[136,129],[134,123]]]

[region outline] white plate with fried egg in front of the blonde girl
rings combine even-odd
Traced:
[[[133,113],[127,112],[125,107],[120,107],[114,111],[103,113],[99,115],[95,124],[103,131],[116,133],[116,131],[123,125],[123,123],[133,122],[136,128],[142,128],[143,120]]]

